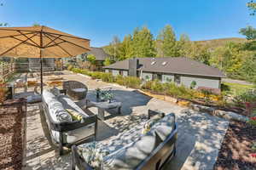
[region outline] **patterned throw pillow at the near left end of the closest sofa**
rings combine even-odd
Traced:
[[[101,169],[103,157],[108,156],[109,154],[108,151],[104,151],[101,147],[98,147],[96,141],[80,144],[78,148],[80,155],[84,158],[84,161],[96,170]]]

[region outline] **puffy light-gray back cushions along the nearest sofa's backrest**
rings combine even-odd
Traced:
[[[103,169],[134,169],[172,133],[175,116],[169,114],[156,122],[150,131],[131,144],[104,157]],[[157,135],[156,135],[157,133]]]

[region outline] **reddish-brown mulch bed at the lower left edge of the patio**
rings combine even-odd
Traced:
[[[0,169],[22,167],[25,114],[16,109],[0,109]]]

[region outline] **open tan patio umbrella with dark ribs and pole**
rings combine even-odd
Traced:
[[[43,58],[73,57],[90,51],[90,40],[47,26],[0,27],[0,57],[40,58],[41,94]]]

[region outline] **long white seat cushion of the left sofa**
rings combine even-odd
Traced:
[[[59,95],[57,99],[61,102],[64,109],[69,109],[78,112],[83,117],[88,117],[88,115],[79,107],[79,105],[76,105],[72,99],[67,97],[67,95]]]

